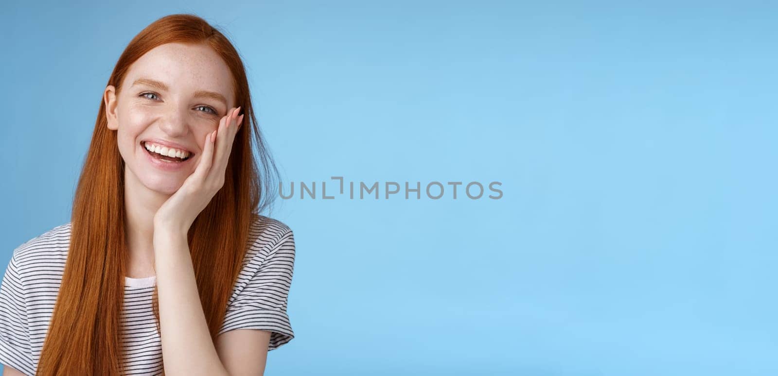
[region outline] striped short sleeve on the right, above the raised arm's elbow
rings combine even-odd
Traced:
[[[295,245],[292,230],[285,228],[271,244],[259,237],[256,251],[238,277],[237,292],[227,304],[219,334],[234,329],[261,329],[271,332],[268,351],[294,338],[286,302],[292,284]]]

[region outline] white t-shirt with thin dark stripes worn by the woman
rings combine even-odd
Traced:
[[[0,363],[35,374],[65,270],[70,225],[59,225],[13,251],[0,285]],[[295,245],[281,221],[254,214],[247,249],[219,334],[271,332],[268,350],[294,338],[286,302]],[[156,276],[125,277],[121,314],[125,374],[161,374],[162,343],[152,311]]]

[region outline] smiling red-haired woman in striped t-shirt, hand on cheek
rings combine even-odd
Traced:
[[[230,41],[191,15],[138,33],[103,93],[71,221],[13,251],[5,374],[262,374],[294,336],[293,233],[258,214],[271,172]]]

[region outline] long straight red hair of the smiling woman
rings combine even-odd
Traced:
[[[251,221],[254,214],[272,206],[275,190],[271,182],[280,178],[254,116],[240,55],[230,40],[204,19],[188,14],[157,19],[130,41],[107,85],[121,91],[124,74],[133,62],[152,48],[172,42],[205,44],[215,50],[232,72],[237,106],[245,114],[224,185],[187,234],[200,301],[211,337],[216,340],[248,246]],[[107,127],[101,97],[73,199],[68,259],[37,374],[123,373],[120,315],[128,260],[124,235],[124,160],[115,131]],[[159,328],[156,287],[152,301]]]

